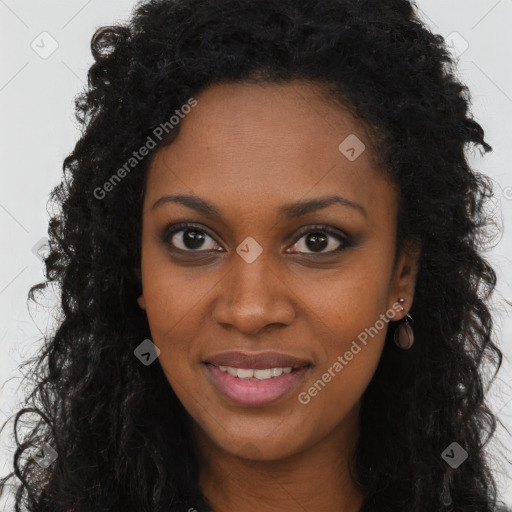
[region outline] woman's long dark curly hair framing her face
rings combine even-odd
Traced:
[[[414,305],[416,342],[384,351],[361,404],[354,478],[361,512],[491,512],[497,488],[485,445],[499,422],[486,399],[487,368],[502,362],[488,306],[496,274],[483,256],[496,222],[490,178],[466,150],[487,152],[444,39],[406,0],[149,0],[125,23],[99,28],[95,62],[77,96],[81,138],[64,160],[50,202],[46,281],[62,314],[17,412],[16,511],[211,510],[198,483],[187,412],[160,365],[134,357],[150,338],[137,307],[141,217],[148,158],[102,199],[95,191],[156,127],[220,82],[327,85],[373,134],[400,190],[397,250],[415,237],[422,253]],[[24,366],[23,365],[23,366]],[[37,424],[20,442],[25,414]],[[5,427],[5,423],[3,425]],[[441,458],[456,440],[469,458]],[[30,457],[58,453],[41,469]]]

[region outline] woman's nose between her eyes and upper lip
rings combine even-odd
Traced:
[[[290,325],[294,294],[283,271],[270,266],[263,252],[252,263],[233,254],[228,274],[215,288],[213,318],[224,328],[255,336],[270,325]]]

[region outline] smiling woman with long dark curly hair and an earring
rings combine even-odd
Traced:
[[[92,52],[30,510],[499,510],[491,148],[443,39],[405,0],[152,0]]]

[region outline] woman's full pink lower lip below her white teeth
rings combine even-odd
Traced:
[[[305,366],[279,377],[257,381],[233,377],[210,363],[205,366],[217,390],[234,404],[245,407],[260,407],[279,400],[296,388],[311,368]]]

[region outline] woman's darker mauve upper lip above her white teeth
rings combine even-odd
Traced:
[[[231,366],[233,368],[300,368],[309,366],[311,363],[303,358],[282,354],[280,352],[219,352],[208,356],[205,363],[211,363],[214,366]]]

